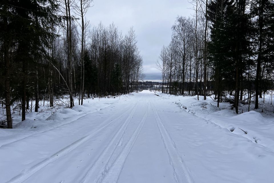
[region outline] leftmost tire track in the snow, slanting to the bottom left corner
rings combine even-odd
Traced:
[[[122,115],[118,116],[117,118],[115,118],[114,120],[112,120],[111,122],[109,122],[108,124],[102,126],[101,128],[99,128],[98,130],[92,132],[91,134],[84,136],[78,140],[76,140],[75,142],[73,142],[72,144],[68,145],[67,147],[59,150],[58,152],[56,152],[55,154],[53,154],[52,156],[50,156],[49,158],[46,158],[45,160],[39,162],[38,164],[32,166],[29,169],[23,170],[21,172],[21,174],[11,178],[11,180],[9,180],[7,183],[21,183],[24,182],[27,178],[29,178],[30,176],[32,176],[33,174],[35,174],[36,172],[38,172],[39,170],[41,170],[42,168],[44,168],[45,166],[47,166],[50,163],[55,162],[56,160],[58,160],[60,157],[65,156],[66,154],[68,154],[70,151],[74,150],[75,148],[77,148],[78,146],[80,146],[81,144],[83,144],[84,142],[88,141],[89,139],[91,139],[92,137],[94,137],[96,134],[98,134],[100,131],[104,130],[106,127],[108,127],[110,124],[116,122],[117,120],[121,119],[125,114],[127,114],[130,110],[134,109],[134,106],[137,106],[138,102],[136,102],[132,108],[126,110],[126,112],[124,112]],[[107,118],[105,121],[109,121],[111,120],[111,116],[109,118]]]

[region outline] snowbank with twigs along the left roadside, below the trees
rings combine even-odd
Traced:
[[[23,122],[21,122],[19,112],[16,112],[12,115],[13,129],[0,128],[0,146],[68,124],[86,114],[102,110],[116,102],[127,100],[128,97],[129,96],[122,95],[120,98],[90,98],[84,100],[82,106],[77,105],[78,101],[75,100],[75,106],[72,109],[66,108],[65,105],[55,107],[45,105],[39,108],[39,112],[26,113],[26,120]],[[63,100],[65,101],[67,99],[64,98]],[[43,102],[41,104],[43,104]],[[65,102],[62,104],[65,104]]]

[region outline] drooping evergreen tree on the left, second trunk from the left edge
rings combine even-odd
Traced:
[[[26,112],[26,86],[30,65],[39,63],[43,55],[47,55],[49,38],[55,36],[49,31],[48,25],[61,20],[57,15],[59,5],[55,0],[14,1],[16,40],[18,43],[16,60],[22,64],[22,121]],[[33,68],[33,67],[32,67]],[[35,68],[35,67],[34,67]]]

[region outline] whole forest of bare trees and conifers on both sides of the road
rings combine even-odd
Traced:
[[[86,17],[92,0],[3,0],[0,2],[0,96],[8,128],[11,108],[37,112],[45,101],[142,90],[143,59],[134,28],[114,23],[92,27]],[[162,93],[214,95],[255,104],[274,81],[273,0],[192,0],[192,16],[178,16],[169,45],[156,62]],[[200,96],[200,98],[199,98]],[[39,105],[40,101],[40,105]],[[44,101],[44,104],[41,103]],[[253,109],[248,109],[253,110]]]

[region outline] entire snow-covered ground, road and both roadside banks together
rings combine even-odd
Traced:
[[[147,90],[87,101],[0,129],[0,182],[274,180],[271,115]]]

